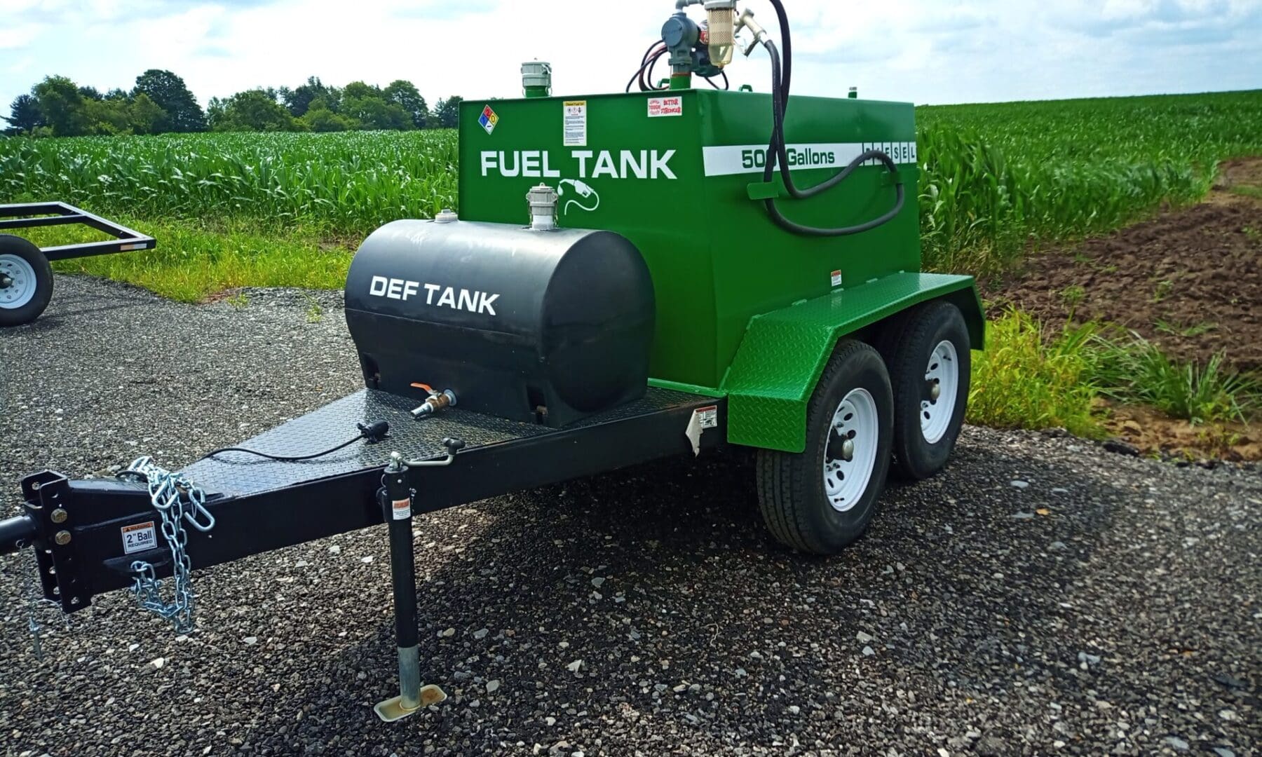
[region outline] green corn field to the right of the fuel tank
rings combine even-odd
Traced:
[[[1262,91],[921,107],[916,121],[921,238],[939,270],[1196,201],[1219,161],[1262,155]]]

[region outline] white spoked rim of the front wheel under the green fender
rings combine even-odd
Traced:
[[[824,444],[824,496],[833,510],[846,512],[863,497],[876,468],[880,435],[876,400],[866,389],[851,390],[833,413]]]

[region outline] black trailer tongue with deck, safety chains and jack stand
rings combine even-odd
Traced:
[[[650,389],[640,400],[564,429],[459,408],[415,421],[415,405],[365,389],[241,444],[302,457],[353,433],[357,424],[390,426],[381,442],[356,443],[312,461],[227,452],[169,476],[153,467],[140,476],[120,474],[133,481],[71,481],[50,471],[29,476],[21,483],[24,515],[0,521],[0,554],[34,545],[43,597],[64,612],[85,609],[96,594],[131,589],[148,599],[148,609],[191,632],[194,599],[183,573],[188,565],[209,568],[385,522],[400,655],[410,660],[416,647],[414,517],[690,453],[690,424],[705,426],[695,435],[698,449],[722,447],[726,404]],[[419,459],[392,459],[395,450]],[[452,464],[428,467],[435,462]],[[183,501],[175,507],[184,510],[173,512],[154,490],[174,492]],[[204,505],[193,505],[191,491],[203,493]],[[173,599],[159,598],[163,589],[151,583],[156,577],[174,577]],[[409,674],[414,666],[401,665],[401,696],[405,704],[419,701],[419,678]],[[430,696],[437,694],[430,689]],[[396,710],[386,708],[382,715]]]

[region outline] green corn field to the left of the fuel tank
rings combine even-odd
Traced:
[[[456,160],[451,130],[8,139],[0,202],[366,233],[453,207]]]

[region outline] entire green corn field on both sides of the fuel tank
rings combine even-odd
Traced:
[[[923,107],[925,262],[977,273],[1032,242],[1201,197],[1262,154],[1262,91]],[[0,139],[0,202],[127,218],[245,218],[363,235],[454,207],[454,131]]]

